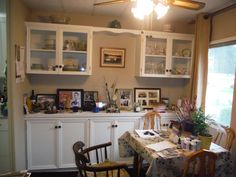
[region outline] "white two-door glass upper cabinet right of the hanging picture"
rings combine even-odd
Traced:
[[[143,32],[140,47],[138,76],[191,77],[193,35]]]

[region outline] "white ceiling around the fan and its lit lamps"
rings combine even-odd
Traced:
[[[133,3],[126,2],[112,4],[108,6],[96,6],[94,3],[106,0],[24,0],[26,5],[33,10],[57,11],[57,12],[76,12],[88,15],[107,15],[126,18],[132,16],[131,8]],[[214,12],[221,8],[236,3],[236,0],[196,0],[206,3],[206,6],[199,10],[187,10],[172,6],[165,19],[168,21],[191,21],[195,15],[201,12]]]

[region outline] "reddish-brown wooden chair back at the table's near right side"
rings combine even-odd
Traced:
[[[182,177],[214,177],[217,155],[208,150],[191,154],[184,167]]]

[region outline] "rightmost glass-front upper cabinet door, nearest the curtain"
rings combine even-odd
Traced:
[[[191,76],[193,41],[173,39],[172,43],[171,75],[188,78]]]

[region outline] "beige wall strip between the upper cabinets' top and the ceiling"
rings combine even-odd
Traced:
[[[70,24],[74,25],[87,25],[87,26],[99,26],[108,27],[109,22],[117,19],[121,22],[121,26],[124,29],[146,29],[152,31],[162,31],[164,24],[171,24],[175,32],[178,33],[189,33],[193,34],[194,25],[188,24],[187,22],[170,22],[167,20],[156,20],[155,18],[151,21],[150,19],[145,19],[144,21],[137,20],[134,17],[122,18],[122,17],[111,17],[111,16],[93,16],[78,13],[56,13],[56,12],[46,12],[46,11],[33,11],[30,15],[30,21],[39,21],[39,17],[70,17]]]

